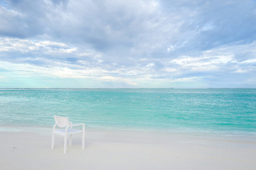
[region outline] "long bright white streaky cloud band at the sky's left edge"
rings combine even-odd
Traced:
[[[6,53],[4,52],[15,52],[17,60],[21,61],[26,61],[28,59],[38,60],[38,56],[41,56],[40,59],[42,63],[44,62],[43,59],[47,62],[50,56],[53,58],[53,61],[51,62],[55,62],[54,58],[60,59],[65,57],[76,57],[80,59],[91,57],[93,60],[99,62],[102,57],[101,52],[96,52],[95,50],[86,47],[81,50],[78,47],[74,47],[63,42],[53,42],[49,40],[22,40],[18,38],[0,37],[0,57],[6,56]],[[33,54],[33,57],[22,58],[18,56],[21,54],[27,54],[28,56]]]

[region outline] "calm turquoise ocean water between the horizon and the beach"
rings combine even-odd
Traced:
[[[256,135],[256,89],[0,89],[0,126]]]

